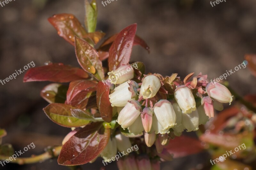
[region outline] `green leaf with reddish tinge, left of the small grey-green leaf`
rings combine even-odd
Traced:
[[[79,109],[71,105],[51,103],[45,107],[44,113],[55,123],[64,127],[81,127],[88,124],[90,121],[78,119],[72,116],[71,109]]]

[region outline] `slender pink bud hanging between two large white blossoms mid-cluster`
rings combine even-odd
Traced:
[[[145,132],[149,132],[151,130],[152,121],[153,121],[153,112],[150,108],[145,107],[140,115],[142,119],[142,124]]]

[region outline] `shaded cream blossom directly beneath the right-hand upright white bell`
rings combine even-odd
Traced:
[[[199,115],[197,110],[190,114],[182,114],[182,125],[187,129],[187,132],[198,130]]]

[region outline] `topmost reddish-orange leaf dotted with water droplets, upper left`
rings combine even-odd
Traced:
[[[58,34],[73,46],[75,36],[82,38],[87,34],[82,24],[72,14],[56,14],[48,18],[48,21],[55,27]]]

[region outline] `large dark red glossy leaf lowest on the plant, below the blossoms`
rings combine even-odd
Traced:
[[[102,122],[86,125],[62,146],[58,163],[65,166],[86,164],[103,151],[109,136],[110,129],[104,129]]]

